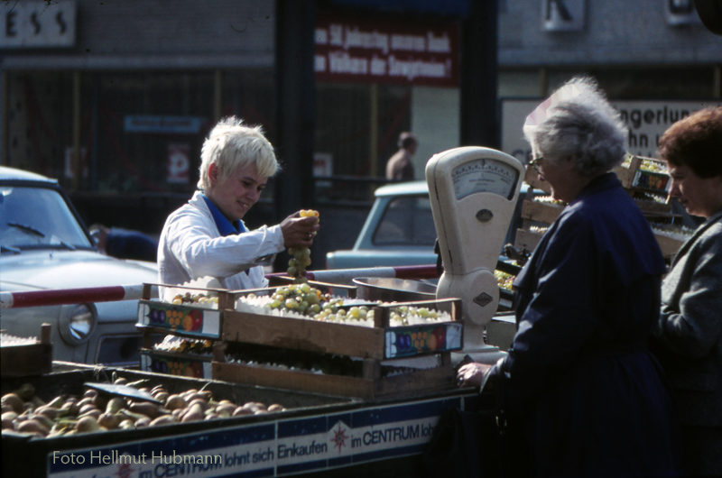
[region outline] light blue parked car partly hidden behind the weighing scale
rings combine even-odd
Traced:
[[[516,212],[504,244],[514,244],[522,200],[532,190],[523,183]],[[544,194],[534,190],[535,194]],[[327,269],[437,263],[436,228],[426,181],[387,185],[375,190],[375,201],[366,222],[349,250],[326,254]],[[502,253],[501,251],[499,253]]]

